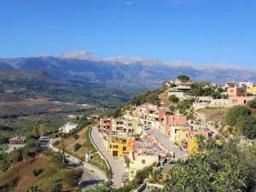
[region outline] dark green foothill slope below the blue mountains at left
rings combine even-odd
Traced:
[[[66,81],[37,70],[1,69],[2,100],[47,97],[51,101],[116,105],[127,101],[128,94],[105,88],[103,84]]]

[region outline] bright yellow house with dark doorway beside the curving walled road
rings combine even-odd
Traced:
[[[129,154],[132,149],[133,137],[124,136],[106,136],[104,137],[104,145],[111,151],[111,154],[120,157],[123,154]]]

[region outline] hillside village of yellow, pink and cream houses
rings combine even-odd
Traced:
[[[168,172],[177,160],[198,153],[199,137],[222,137],[195,110],[246,105],[256,94],[252,82],[233,81],[218,86],[194,83],[185,75],[163,86],[160,96],[167,100],[156,99],[152,104],[134,98],[118,117],[100,119],[97,129],[105,149],[125,164],[121,183],[131,181],[138,170],[153,163]]]

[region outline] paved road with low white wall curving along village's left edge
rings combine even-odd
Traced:
[[[112,169],[112,182],[114,187],[121,187],[123,185],[122,176],[125,173],[125,164],[121,158],[113,157],[111,153],[105,148],[103,144],[103,138],[98,132],[97,127],[93,127],[91,130],[91,139],[99,148],[102,155],[108,160],[108,163]]]

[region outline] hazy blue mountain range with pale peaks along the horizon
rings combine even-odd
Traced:
[[[226,64],[196,65],[186,61],[157,61],[143,57],[100,58],[88,51],[60,55],[0,59],[1,69],[44,71],[57,79],[103,84],[120,90],[145,90],[186,74],[193,81],[223,84],[233,79],[256,82],[256,71]]]

